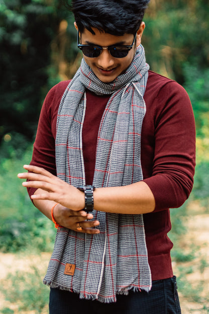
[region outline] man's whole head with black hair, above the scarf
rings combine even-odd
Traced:
[[[145,27],[142,19],[148,3],[149,0],[72,0],[80,44],[100,46],[98,56],[86,55],[83,50],[83,58],[101,82],[114,81],[131,64],[141,43]],[[124,57],[115,56],[112,48],[107,49],[132,44]]]

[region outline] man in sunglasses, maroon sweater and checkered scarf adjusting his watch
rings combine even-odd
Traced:
[[[184,89],[145,61],[148,2],[72,1],[81,66],[48,93],[19,174],[58,228],[50,314],[180,313],[168,208],[192,189],[194,118]]]

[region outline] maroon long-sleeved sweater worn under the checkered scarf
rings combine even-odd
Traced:
[[[44,101],[31,162],[54,175],[57,111],[68,84],[66,81],[53,87]],[[98,128],[109,96],[96,96],[87,90],[86,97],[83,158],[86,184],[92,184]],[[176,82],[149,71],[144,100],[147,109],[141,134],[141,164],[156,207],[143,216],[152,280],[158,280],[173,276],[168,208],[181,206],[192,189],[195,126],[189,97]],[[35,189],[29,188],[28,192],[31,196]]]

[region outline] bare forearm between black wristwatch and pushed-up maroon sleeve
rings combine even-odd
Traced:
[[[148,185],[141,181],[128,186],[98,188],[93,192],[94,209],[120,214],[143,214],[155,209]]]

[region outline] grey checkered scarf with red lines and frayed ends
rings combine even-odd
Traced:
[[[124,186],[143,179],[141,127],[148,69],[142,45],[126,72],[111,83],[99,81],[82,59],[58,110],[56,167],[60,179],[75,187],[85,184],[82,125],[86,89],[97,95],[112,94],[98,131],[93,185]],[[95,210],[93,215],[100,222],[99,234],[58,229],[44,283],[101,302],[115,302],[117,294],[128,294],[130,289],[149,291],[143,215]],[[75,265],[73,276],[64,274],[66,263]]]

